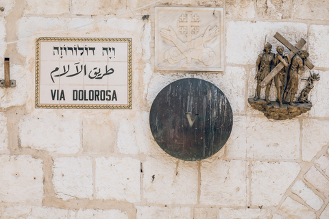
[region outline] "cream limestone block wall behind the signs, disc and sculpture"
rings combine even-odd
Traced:
[[[10,57],[16,80],[0,88],[0,218],[329,218],[329,2],[162,0],[140,8],[149,3],[0,0],[0,60]],[[224,8],[224,72],[154,70],[154,7],[168,5]],[[274,50],[276,31],[293,44],[304,38],[321,76],[312,110],[291,120],[269,120],[247,103],[264,36]],[[45,35],[132,38],[133,109],[35,109],[35,38]],[[167,155],[149,129],[156,94],[186,77],[214,83],[234,112],[230,139],[201,162]]]

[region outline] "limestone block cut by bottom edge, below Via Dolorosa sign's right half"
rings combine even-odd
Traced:
[[[125,212],[118,209],[100,210],[100,209],[80,209],[78,211],[71,211],[71,219],[128,219]]]

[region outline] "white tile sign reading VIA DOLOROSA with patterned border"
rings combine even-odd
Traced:
[[[132,109],[132,39],[38,38],[36,108]]]

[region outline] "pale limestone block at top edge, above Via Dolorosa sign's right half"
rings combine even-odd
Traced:
[[[78,15],[107,15],[107,14],[121,14],[128,10],[128,1],[120,0],[73,0],[72,13]]]

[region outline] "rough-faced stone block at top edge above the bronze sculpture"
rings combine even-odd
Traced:
[[[258,17],[265,19],[291,18],[291,1],[260,0],[257,2]]]

